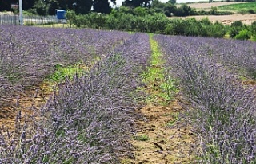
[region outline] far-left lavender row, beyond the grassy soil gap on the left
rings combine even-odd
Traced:
[[[38,84],[58,64],[90,64],[129,33],[0,26],[0,105],[8,93]],[[10,95],[10,94],[9,94]]]

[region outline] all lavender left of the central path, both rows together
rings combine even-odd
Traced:
[[[97,60],[83,76],[66,79],[34,115],[18,112],[14,131],[2,127],[0,163],[116,163],[129,155],[133,110],[143,97],[135,91],[150,57],[146,34],[3,26],[1,46],[2,104],[56,64]]]

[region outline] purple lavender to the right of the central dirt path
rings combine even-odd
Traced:
[[[199,162],[256,162],[254,88],[242,86],[229,69],[239,57],[236,53],[245,61],[243,57],[251,56],[255,44],[162,35],[155,39],[165,53],[166,68],[180,81],[182,97],[189,103],[187,120],[199,136]],[[225,54],[228,62],[223,61]]]

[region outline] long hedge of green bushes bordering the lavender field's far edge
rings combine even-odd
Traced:
[[[68,24],[77,28],[122,30],[142,33],[160,33],[191,37],[230,37],[256,41],[256,21],[252,25],[234,21],[231,25],[212,22],[208,18],[167,18],[161,13],[152,13],[143,7],[130,10],[128,7],[114,9],[110,14],[75,14],[68,10]]]

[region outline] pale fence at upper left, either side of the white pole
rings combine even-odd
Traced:
[[[66,20],[57,19],[56,16],[23,15],[23,25],[56,25],[66,24]],[[0,25],[20,25],[17,14],[0,14]]]

